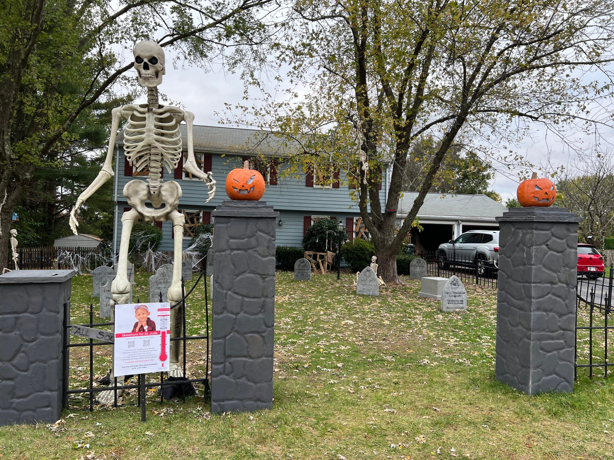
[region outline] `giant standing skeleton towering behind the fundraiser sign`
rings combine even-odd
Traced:
[[[118,304],[127,304],[130,294],[130,282],[127,277],[128,243],[130,232],[135,221],[139,219],[146,222],[167,221],[173,222],[174,232],[174,267],[173,280],[168,289],[168,301],[179,302],[182,299],[181,288],[181,261],[182,242],[185,217],[177,211],[181,187],[177,182],[163,183],[160,172],[166,166],[170,173],[177,167],[181,159],[181,132],[179,124],[185,121],[187,131],[188,158],[183,167],[193,177],[204,180],[208,185],[209,202],[216,193],[216,181],[211,172],[203,172],[194,157],[192,122],[194,114],[181,110],[177,107],[164,106],[158,103],[158,85],[162,82],[165,71],[165,56],[162,48],[155,42],[144,40],[134,47],[134,68],[137,71],[139,85],[147,88],[147,104],[130,104],[123,107],[115,107],[112,110],[111,139],[109,139],[109,151],[104,161],[103,169],[98,177],[80,194],[75,207],[72,209],[70,225],[72,232],[77,234],[77,212],[79,207],[104,182],[113,177],[112,168],[113,150],[115,137],[119,129],[121,118],[126,120],[123,131],[124,155],[136,171],[149,170],[147,183],[135,179],[128,182],[123,188],[123,196],[128,200],[132,209],[123,213],[122,216],[122,239],[120,242],[119,261],[117,276],[111,285],[111,307]],[[146,205],[149,201],[153,207]],[[163,204],[165,204],[163,206]],[[155,299],[150,299],[155,300]],[[113,310],[113,309],[112,309]],[[177,337],[183,334],[182,312],[179,308],[171,310],[171,336]],[[171,354],[169,375],[171,377],[184,377],[179,366],[179,346],[177,341],[171,341]],[[123,377],[117,377],[118,384],[123,384]],[[111,385],[114,385],[114,373],[111,370]],[[121,394],[119,392],[119,394]],[[114,400],[114,391],[102,391],[98,401],[103,404],[111,404]]]

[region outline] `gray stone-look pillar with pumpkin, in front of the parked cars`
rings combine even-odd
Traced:
[[[499,221],[497,380],[527,394],[573,391],[578,222],[565,208]]]

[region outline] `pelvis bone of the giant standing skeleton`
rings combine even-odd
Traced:
[[[179,198],[181,198],[181,187],[177,182],[164,182],[156,190],[152,190],[148,183],[134,179],[128,182],[123,188],[123,196],[128,199],[128,204],[137,210],[146,222],[167,221],[171,211],[177,209]],[[150,201],[152,205],[159,208],[162,203],[165,207],[152,209],[146,206]]]

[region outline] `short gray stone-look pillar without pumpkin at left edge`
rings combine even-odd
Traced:
[[[61,418],[63,324],[74,273],[15,270],[0,276],[0,426]]]

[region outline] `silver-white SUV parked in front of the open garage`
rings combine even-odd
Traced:
[[[437,263],[445,270],[449,265],[475,267],[478,275],[497,270],[499,230],[470,230],[456,240],[439,245]]]

